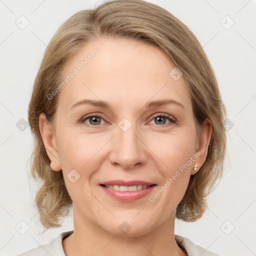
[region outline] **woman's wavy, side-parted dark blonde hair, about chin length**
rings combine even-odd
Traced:
[[[211,122],[212,133],[205,162],[190,176],[175,216],[183,221],[199,219],[206,207],[206,196],[215,188],[223,172],[226,136],[222,103],[213,69],[195,35],[167,10],[143,0],[111,0],[94,9],[81,10],[68,18],[55,32],[45,49],[34,80],[28,107],[28,121],[34,137],[31,174],[41,185],[35,197],[39,220],[44,228],[59,227],[72,199],[61,171],[53,171],[40,131],[39,114],[54,121],[60,92],[47,95],[63,80],[66,62],[87,43],[100,38],[133,38],[159,47],[182,71],[192,100],[196,131],[203,121]]]

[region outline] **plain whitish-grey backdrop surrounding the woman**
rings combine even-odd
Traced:
[[[197,36],[216,74],[227,108],[224,175],[196,222],[176,221],[175,233],[220,255],[256,255],[256,3],[255,0],[148,0],[167,9]],[[103,1],[0,0],[0,255],[16,255],[71,230],[42,235],[28,178],[32,135],[27,107],[50,38],[81,9]],[[203,254],[201,254],[203,256]]]

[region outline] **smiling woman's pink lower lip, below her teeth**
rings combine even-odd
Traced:
[[[156,185],[149,186],[147,188],[142,188],[137,191],[116,191],[114,189],[107,188],[102,185],[99,186],[111,197],[119,201],[130,202],[149,194]]]

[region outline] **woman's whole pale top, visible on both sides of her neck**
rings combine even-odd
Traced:
[[[65,256],[62,247],[62,240],[69,236],[72,232],[73,230],[60,233],[56,238],[51,240],[50,243],[39,245],[38,247],[18,254],[17,256]],[[180,247],[185,249],[188,256],[219,256],[202,248],[199,245],[194,244],[187,237],[175,234],[175,240]]]

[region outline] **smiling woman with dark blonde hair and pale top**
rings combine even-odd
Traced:
[[[216,255],[174,234],[222,174],[225,109],[192,32],[161,7],[113,0],[65,21],[35,78],[32,175],[45,229],[20,255]]]

